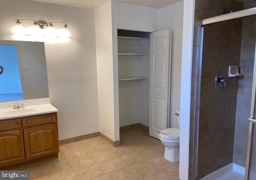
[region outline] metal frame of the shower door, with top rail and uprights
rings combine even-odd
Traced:
[[[237,18],[244,18],[246,16],[256,15],[256,7],[250,8],[246,10],[241,10],[238,12],[232,12],[229,14],[224,14],[220,16],[215,16],[212,18],[207,18],[204,20],[198,21],[198,49],[197,49],[197,59],[196,59],[196,109],[195,111],[195,122],[194,122],[194,180],[197,180],[198,175],[198,139],[199,139],[199,114],[200,114],[200,89],[201,89],[201,71],[202,71],[202,49],[203,49],[203,38],[204,38],[204,26],[208,24],[213,24],[217,22],[237,19]],[[255,101],[255,92],[256,92],[256,52],[254,57],[254,75],[253,75],[253,84],[252,84],[252,101],[251,101],[251,108],[250,108],[250,117],[249,120],[249,129],[248,129],[248,145],[247,145],[247,153],[246,153],[246,168],[245,168],[245,175],[244,180],[248,180],[248,173],[249,173],[249,164],[250,164],[250,149],[251,149],[251,142],[252,142],[252,127],[253,123],[256,123],[256,119],[253,119],[254,115],[254,101]]]

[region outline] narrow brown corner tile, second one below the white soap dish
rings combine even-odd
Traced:
[[[232,127],[236,123],[236,101],[226,104],[225,128]]]

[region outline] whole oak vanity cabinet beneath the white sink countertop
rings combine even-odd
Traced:
[[[0,170],[58,158],[57,113],[0,120]]]

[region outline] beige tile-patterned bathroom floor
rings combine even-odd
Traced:
[[[59,158],[19,168],[37,180],[178,180],[179,163],[140,128],[123,131],[120,147],[101,137],[60,146]]]

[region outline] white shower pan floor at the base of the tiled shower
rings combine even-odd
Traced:
[[[200,180],[243,180],[245,168],[235,163],[230,163]]]

